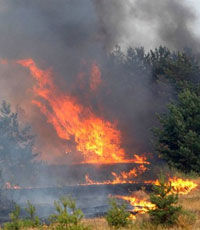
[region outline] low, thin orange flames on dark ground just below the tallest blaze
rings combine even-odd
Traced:
[[[102,182],[94,181],[90,179],[89,175],[86,174],[84,185],[105,185],[105,184],[134,184],[135,181],[133,178],[137,177],[138,175],[144,173],[147,168],[144,165],[140,165],[137,168],[133,168],[129,172],[122,171],[119,174],[112,172],[112,176],[114,177],[113,180],[105,180]]]

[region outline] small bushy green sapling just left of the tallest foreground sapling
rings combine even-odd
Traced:
[[[119,204],[116,199],[111,198],[109,200],[110,209],[107,212],[106,220],[109,226],[116,229],[121,227],[127,227],[130,222],[130,213],[126,211],[127,205],[125,203]]]

